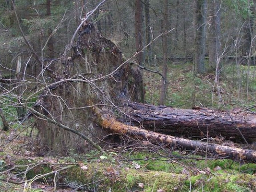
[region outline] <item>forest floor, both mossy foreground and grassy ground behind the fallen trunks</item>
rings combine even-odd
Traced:
[[[248,94],[247,68],[239,68],[237,74],[236,66],[225,67],[219,84],[229,110],[256,103],[255,68],[250,69]],[[144,76],[145,102],[157,104],[161,77],[147,71]],[[193,77],[190,64],[169,65],[166,105],[224,109],[214,78],[214,73]],[[37,130],[32,128],[32,120],[19,124],[7,115],[7,121],[11,129],[0,130],[0,191],[256,191],[256,164],[218,159],[212,154],[198,156],[195,151],[173,151],[127,138],[123,138],[125,145],[109,144],[112,146],[106,149],[115,162],[95,150],[70,153],[68,157],[38,157]],[[214,138],[214,142],[244,147],[222,138]]]

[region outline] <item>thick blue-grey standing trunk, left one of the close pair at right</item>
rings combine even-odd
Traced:
[[[194,67],[196,73],[205,72],[205,45],[206,45],[206,0],[196,0],[196,38]]]

